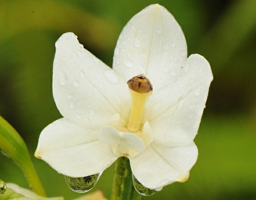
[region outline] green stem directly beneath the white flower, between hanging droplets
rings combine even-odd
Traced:
[[[118,158],[115,162],[111,200],[140,200],[141,198],[142,196],[133,187],[129,159],[127,157]]]

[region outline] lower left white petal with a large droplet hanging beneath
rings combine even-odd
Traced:
[[[117,157],[97,131],[58,119],[40,134],[35,156],[61,174],[83,177],[104,171]]]

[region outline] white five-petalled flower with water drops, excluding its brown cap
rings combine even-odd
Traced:
[[[145,103],[127,85],[140,74],[153,88]],[[197,160],[193,140],[212,79],[204,57],[187,58],[181,27],[158,4],[124,27],[113,69],[65,33],[53,63],[53,97],[64,118],[41,132],[35,156],[71,177],[97,174],[126,156],[147,188],[183,182]],[[132,108],[132,101],[142,103]]]

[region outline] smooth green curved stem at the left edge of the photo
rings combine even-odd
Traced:
[[[0,116],[0,149],[24,172],[32,190],[46,196],[45,190],[31,161],[28,147],[18,132]]]

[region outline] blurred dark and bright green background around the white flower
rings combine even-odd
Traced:
[[[206,57],[214,80],[190,178],[144,199],[256,199],[255,0],[0,0],[0,115],[21,134],[33,157],[41,130],[61,117],[51,88],[55,41],[74,32],[111,66],[121,29],[152,3],[175,16],[188,54]],[[45,162],[34,157],[33,162],[49,196],[80,196]],[[108,198],[113,167],[93,189],[101,188]],[[2,154],[0,179],[28,187],[20,169]]]

